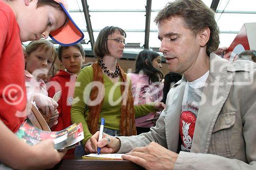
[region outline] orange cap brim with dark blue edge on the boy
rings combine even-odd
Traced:
[[[61,3],[59,4],[69,18],[69,21],[65,26],[62,26],[55,31],[52,31],[49,36],[52,38],[53,41],[57,42],[60,45],[74,45],[83,40],[84,35],[82,31],[77,27],[66,8]]]

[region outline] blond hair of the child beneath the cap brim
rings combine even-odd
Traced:
[[[54,58],[52,66],[51,66],[51,68],[52,68],[54,63],[55,63],[55,60],[56,60],[56,58],[58,56],[56,48],[54,47],[53,43],[51,43],[50,41],[48,41],[48,40],[46,40],[44,38],[41,38],[41,39],[36,40],[36,41],[31,41],[27,45],[25,53],[27,55],[30,55],[32,52],[36,51],[38,48],[40,48],[40,50],[50,51],[52,58]]]

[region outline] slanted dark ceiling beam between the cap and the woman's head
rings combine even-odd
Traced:
[[[93,49],[93,45],[95,41],[94,41],[92,23],[91,23],[90,14],[89,14],[89,6],[87,5],[87,0],[81,0],[81,1],[82,1],[83,14],[84,14],[84,17],[86,18],[87,31],[88,31],[90,43]]]

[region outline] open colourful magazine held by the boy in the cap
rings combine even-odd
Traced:
[[[35,145],[45,139],[52,139],[54,148],[58,151],[75,148],[78,142],[84,138],[81,123],[73,124],[61,131],[49,132],[38,129],[28,118],[19,127],[16,136],[29,145]]]

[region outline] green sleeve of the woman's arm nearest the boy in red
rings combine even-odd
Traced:
[[[91,70],[90,70],[91,69]],[[71,122],[74,123],[82,123],[84,139],[82,140],[82,144],[84,145],[88,139],[92,136],[89,131],[87,122],[86,122],[86,110],[88,106],[86,105],[86,101],[84,101],[84,94],[90,95],[90,91],[84,91],[88,88],[88,84],[93,81],[93,71],[92,67],[85,67],[79,73],[76,80],[76,87],[74,91],[74,99],[73,105],[71,107]],[[90,88],[91,89],[91,88]]]

